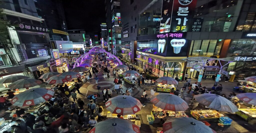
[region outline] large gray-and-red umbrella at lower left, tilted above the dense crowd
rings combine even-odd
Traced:
[[[36,105],[50,99],[54,95],[54,91],[46,88],[32,88],[15,95],[10,102],[13,105],[22,107]]]

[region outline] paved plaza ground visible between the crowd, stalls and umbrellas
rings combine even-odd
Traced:
[[[113,95],[112,97],[115,97],[115,96],[118,96],[118,95],[122,95],[122,93],[120,94],[117,94],[115,91],[114,91],[114,77],[113,77],[113,74],[112,74],[112,68],[109,67],[109,70],[111,71],[111,77],[109,79],[104,79],[101,72],[99,72],[99,81],[98,81],[98,84],[101,86],[101,90],[103,90],[104,88],[111,88],[111,90],[113,90]],[[118,77],[119,78],[119,77]],[[195,83],[196,82],[196,79],[192,79],[191,80],[191,83]],[[202,80],[202,86],[206,86],[207,89],[210,89],[213,84],[214,84],[214,81],[211,80],[211,79],[206,79],[206,80]],[[227,96],[229,95],[229,93],[231,93],[233,91],[233,87],[236,86],[237,82],[224,82],[224,81],[220,81],[219,82],[220,84],[222,84],[223,86],[223,91],[221,94],[226,94]],[[179,85],[177,87],[177,89],[180,89],[182,86],[183,86],[184,82],[183,81],[180,81],[179,82]],[[89,103],[89,100],[87,100],[87,96],[89,95],[92,95],[92,94],[96,94],[98,91],[96,89],[96,84],[95,84],[95,80],[94,80],[94,76],[92,77],[92,79],[90,80],[90,83],[81,83],[80,84],[81,88],[80,88],[80,92],[81,94],[77,94],[77,96],[79,98],[81,98],[85,104],[88,104]],[[39,86],[35,86],[36,87],[39,87]],[[40,87],[50,87],[49,85],[45,85],[45,83],[41,84]],[[33,87],[34,88],[34,87]],[[127,83],[127,82],[124,82],[123,81],[123,89],[121,90],[122,92],[125,92],[125,90],[128,89],[130,90],[130,93],[131,93],[131,96],[133,96],[134,98],[137,98],[139,99],[143,93],[143,90],[146,90],[147,94],[148,94],[148,97],[150,97],[150,90],[151,89],[154,89],[156,90],[156,87],[155,86],[151,86],[151,87],[148,87],[148,86],[145,86],[145,85],[141,85],[141,87],[138,87],[138,86],[135,86],[135,89],[131,89],[131,84]],[[158,93],[156,92],[155,95],[157,95]],[[191,99],[191,95],[185,95],[186,98],[186,102],[189,103],[189,100]],[[71,101],[71,98],[70,98],[70,101]],[[101,97],[98,98],[98,102],[100,105],[103,106],[104,108],[104,117],[106,117],[106,114],[107,114],[107,110],[105,109],[105,105],[103,102],[103,96],[101,94]],[[140,116],[140,119],[141,119],[141,128],[140,128],[140,131],[142,133],[155,133],[156,130],[157,130],[157,127],[163,127],[161,124],[153,124],[153,125],[150,125],[147,121],[147,118],[146,118],[146,115],[150,115],[151,114],[151,109],[152,109],[152,103],[150,103],[150,100],[148,100],[148,102],[145,104],[146,106],[142,109],[141,111],[139,111],[138,113],[136,113],[136,115],[139,115]],[[199,104],[200,105],[200,104]],[[190,115],[190,110],[192,109],[191,106],[189,106],[190,109],[188,109],[186,111],[186,114],[189,116],[189,117],[192,117]],[[202,106],[200,106],[202,107]],[[87,108],[85,106],[85,108]],[[204,109],[204,107],[202,107]],[[7,109],[1,109],[0,111],[0,115],[4,114],[4,111],[7,110]],[[225,112],[222,112],[222,113],[225,113]],[[217,126],[217,123],[218,122],[209,122],[211,124],[211,128],[216,130],[217,132],[227,132],[227,133],[233,133],[233,132],[241,132],[241,133],[247,133],[247,132],[256,132],[256,127],[255,125],[250,125],[248,124],[248,122],[246,122],[244,119],[242,119],[241,117],[239,117],[238,115],[236,114],[231,114],[231,113],[227,113],[225,114],[226,116],[230,117],[231,119],[233,119],[233,122],[231,124],[231,126],[224,130],[224,131],[220,131],[218,130],[218,126]],[[84,132],[89,132],[90,129],[84,131]]]

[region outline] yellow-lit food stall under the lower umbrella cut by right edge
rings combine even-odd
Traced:
[[[237,115],[248,121],[250,124],[256,123],[256,109],[238,109]]]

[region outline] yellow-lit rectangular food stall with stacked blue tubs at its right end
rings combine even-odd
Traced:
[[[192,110],[190,114],[198,121],[217,121],[220,117],[224,117],[223,114],[216,110]]]

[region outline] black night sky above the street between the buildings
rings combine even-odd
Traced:
[[[106,22],[104,0],[63,0],[68,30],[84,29],[99,32]]]

